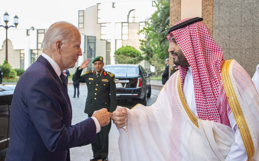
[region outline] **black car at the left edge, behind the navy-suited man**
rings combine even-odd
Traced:
[[[10,139],[10,109],[15,85],[0,84],[0,150],[8,147]]]

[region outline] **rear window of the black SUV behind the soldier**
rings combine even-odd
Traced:
[[[138,67],[129,67],[129,66],[109,66],[105,67],[105,71],[109,71],[113,74],[139,74]]]

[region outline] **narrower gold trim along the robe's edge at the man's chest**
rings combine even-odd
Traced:
[[[188,105],[186,104],[186,101],[184,99],[183,91],[182,91],[182,83],[181,83],[181,79],[180,79],[180,74],[178,76],[177,88],[178,88],[178,93],[179,93],[181,102],[183,104],[183,107],[184,107],[187,115],[189,116],[189,118],[192,121],[192,123],[199,129],[198,118],[191,112],[190,108],[188,107]]]

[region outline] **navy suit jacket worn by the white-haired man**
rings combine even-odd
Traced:
[[[71,119],[68,93],[49,62],[40,56],[16,85],[5,161],[70,160],[69,148],[96,139],[92,118],[75,125]]]

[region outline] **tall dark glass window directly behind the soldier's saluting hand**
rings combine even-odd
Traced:
[[[87,36],[87,58],[92,62],[93,58],[95,58],[95,48],[96,48],[96,38],[95,36]],[[93,63],[89,63],[88,70],[94,70]]]

